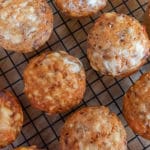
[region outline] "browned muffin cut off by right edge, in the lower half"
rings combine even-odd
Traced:
[[[129,126],[150,140],[150,72],[142,75],[125,94],[123,113]]]

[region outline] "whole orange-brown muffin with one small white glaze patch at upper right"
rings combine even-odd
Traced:
[[[86,86],[82,63],[63,51],[33,58],[25,69],[24,83],[31,105],[49,114],[79,104]]]

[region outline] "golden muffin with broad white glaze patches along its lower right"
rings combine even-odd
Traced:
[[[90,64],[103,75],[124,77],[134,73],[146,62],[149,49],[144,27],[124,14],[101,15],[88,35]]]

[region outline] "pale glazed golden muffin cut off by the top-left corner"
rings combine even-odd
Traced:
[[[46,0],[0,0],[0,46],[16,52],[41,47],[53,29]]]

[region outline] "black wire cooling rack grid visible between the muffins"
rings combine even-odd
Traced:
[[[0,89],[11,90],[24,110],[24,125],[17,140],[3,150],[23,145],[37,145],[43,149],[58,150],[59,133],[66,117],[79,107],[105,105],[121,119],[128,134],[129,150],[150,150],[150,141],[136,135],[122,115],[122,97],[127,89],[143,74],[150,71],[149,61],[141,70],[128,78],[110,78],[95,72],[86,57],[87,33],[101,13],[116,11],[142,21],[147,0],[108,0],[107,7],[98,15],[85,19],[70,19],[61,14],[54,1],[48,1],[54,13],[54,31],[51,39],[38,51],[17,54],[0,50]],[[79,106],[65,114],[48,116],[30,106],[24,93],[22,73],[28,61],[46,50],[66,50],[83,62],[87,75],[87,89]]]

